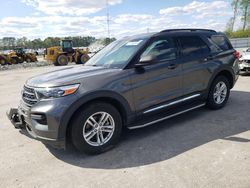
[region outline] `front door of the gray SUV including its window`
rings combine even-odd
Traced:
[[[182,67],[174,41],[164,36],[155,38],[140,58],[148,55],[155,57],[155,63],[144,66],[143,71],[135,68],[131,76],[134,105],[139,113],[182,96]]]

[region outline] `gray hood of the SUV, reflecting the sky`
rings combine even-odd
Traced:
[[[97,76],[100,74],[110,74],[118,69],[107,69],[103,67],[67,67],[35,76],[26,81],[26,85],[31,87],[54,87],[81,83],[84,78]]]

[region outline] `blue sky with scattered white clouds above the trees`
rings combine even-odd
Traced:
[[[2,37],[121,38],[172,28],[224,31],[232,17],[229,0],[9,0],[1,2]]]

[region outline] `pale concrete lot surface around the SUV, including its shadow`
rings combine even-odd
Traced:
[[[26,137],[5,115],[27,78],[60,68],[0,72],[1,187],[250,187],[249,75],[222,110],[201,108],[128,131],[115,149],[86,156]]]

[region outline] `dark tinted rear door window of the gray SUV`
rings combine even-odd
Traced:
[[[210,53],[207,44],[198,36],[178,37],[185,57],[205,56]]]

